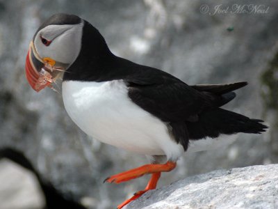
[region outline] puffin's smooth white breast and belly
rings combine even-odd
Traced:
[[[63,82],[65,109],[91,137],[135,153],[177,159],[183,148],[165,123],[133,103],[122,80]]]

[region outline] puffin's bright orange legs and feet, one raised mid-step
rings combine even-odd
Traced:
[[[149,189],[155,189],[158,183],[159,178],[161,177],[161,172],[172,171],[176,167],[176,162],[166,162],[165,164],[146,164],[142,167],[138,167],[136,169],[131,169],[129,171],[125,171],[123,173],[118,173],[114,176],[106,178],[104,181],[108,181],[109,183],[122,183],[127,180],[131,180],[133,178],[138,178],[147,173],[152,173],[152,178],[149,180],[147,187],[144,190],[136,192],[131,199],[124,201],[122,204],[117,206],[117,209],[124,207],[126,204],[131,201],[138,199],[142,194],[147,192]]]

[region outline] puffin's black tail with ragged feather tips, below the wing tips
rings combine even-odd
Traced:
[[[236,134],[238,132],[261,134],[268,126],[259,119],[252,119],[233,111],[217,108],[199,115],[196,122],[186,122],[189,139],[218,137],[220,134]]]

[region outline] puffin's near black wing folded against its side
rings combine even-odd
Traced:
[[[234,94],[223,97],[198,91],[166,72],[142,68],[124,79],[129,86],[129,98],[164,122],[196,121],[204,109],[220,107],[234,98]]]

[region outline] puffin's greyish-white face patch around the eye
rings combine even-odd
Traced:
[[[46,26],[35,36],[35,49],[42,58],[49,57],[60,63],[72,64],[81,49],[82,31],[83,22]],[[51,44],[44,45],[41,37],[51,41]]]

